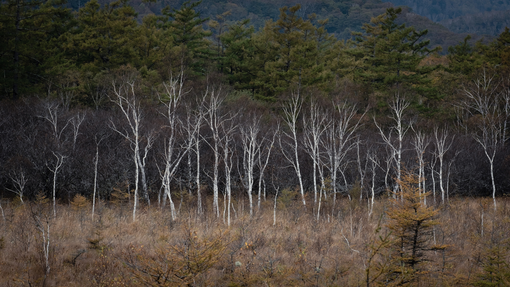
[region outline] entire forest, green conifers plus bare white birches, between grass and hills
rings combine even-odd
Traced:
[[[322,200],[334,213],[339,196],[373,206],[398,196],[404,168],[427,179],[421,190],[436,204],[492,195],[496,205],[508,189],[507,30],[440,57],[427,31],[396,24],[401,9],[345,43],[299,5],[254,32],[247,20],[224,21],[228,13],[206,30],[196,3],[139,25],[126,2],[91,1],[63,31],[49,15],[65,9],[30,3],[24,30],[2,30],[4,196],[42,192],[56,213],[75,194],[125,195],[133,218],[139,200],[169,205],[175,217],[175,203],[192,197],[199,213],[230,218],[236,198],[252,214],[282,189],[317,214]],[[8,4],[5,15],[21,9]],[[65,39],[62,50],[29,55],[37,45],[18,36],[35,39],[35,19],[55,29],[40,30],[38,43]]]

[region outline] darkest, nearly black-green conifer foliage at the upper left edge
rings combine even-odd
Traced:
[[[0,97],[17,100],[50,85],[65,66],[60,38],[71,13],[64,0],[0,3]]]

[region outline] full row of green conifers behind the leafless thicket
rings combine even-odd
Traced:
[[[282,7],[256,30],[249,19],[231,20],[232,11],[202,17],[199,4],[167,6],[159,16],[138,19],[120,0],[90,1],[75,12],[63,2],[3,1],[0,96],[59,95],[68,99],[66,106],[97,106],[101,82],[121,66],[136,68],[150,89],[167,79],[170,67],[184,64],[190,80],[219,72],[237,90],[266,101],[296,88],[331,92],[330,83],[345,78],[384,92],[404,85],[430,98],[444,96],[429,85],[438,64],[455,73],[484,62],[507,66],[507,31],[490,44],[448,49],[448,65],[424,63],[440,48],[428,47],[427,30],[397,24],[409,14],[401,8],[388,8],[363,24],[363,33],[353,33],[355,40],[344,41],[329,33],[328,19],[303,14],[306,5]]]

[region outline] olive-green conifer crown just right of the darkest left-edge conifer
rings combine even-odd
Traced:
[[[67,57],[84,72],[98,73],[122,65],[137,66],[136,12],[119,0],[103,7],[97,0],[77,12],[78,25],[67,34]]]

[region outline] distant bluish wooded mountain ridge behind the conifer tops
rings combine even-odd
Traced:
[[[111,1],[112,0],[100,0],[100,3],[106,4]],[[414,25],[418,30],[428,29],[429,33],[427,38],[430,39],[430,45],[441,45],[443,47],[443,53],[445,53],[448,46],[463,41],[468,34],[471,34],[472,41],[476,41],[482,38],[489,40],[492,39],[492,36],[500,33],[489,33],[489,31],[494,32],[501,30],[500,24],[492,27],[490,23],[480,23],[480,25],[472,27],[470,23],[479,21],[468,21],[468,18],[448,18],[444,22],[435,23],[429,18],[417,13],[417,11],[429,11],[419,8],[421,6],[417,6],[422,2],[425,3],[426,0],[416,0],[416,5],[413,4],[411,0],[392,0],[391,2],[382,2],[380,0],[203,0],[198,10],[201,12],[201,17],[209,17],[210,19],[215,19],[216,15],[225,11],[231,11],[231,15],[227,16],[227,21],[236,22],[248,18],[250,19],[250,24],[258,30],[260,27],[264,26],[267,20],[276,19],[278,17],[279,8],[300,4],[301,17],[306,18],[308,15],[315,13],[318,19],[327,18],[327,31],[334,34],[338,39],[347,40],[351,39],[351,32],[362,31],[363,23],[369,22],[371,17],[385,13],[387,8],[393,7],[394,5],[407,5],[411,9],[404,8],[399,17],[399,21],[401,23],[405,22],[407,25]],[[432,3],[432,1],[429,2]],[[440,1],[437,3],[439,2]],[[510,0],[505,0],[504,2],[510,5]],[[73,9],[78,9],[78,6],[84,5],[84,3],[84,0],[69,0],[69,6]],[[139,19],[141,20],[141,18],[147,14],[154,13],[160,15],[161,9],[166,6],[179,8],[183,3],[183,0],[158,0],[156,3],[150,4],[144,3],[143,0],[132,0],[130,5],[138,12]],[[430,6],[436,7],[432,4],[430,4]],[[498,7],[506,6],[500,5]],[[465,11],[470,12],[471,10],[465,9]],[[505,15],[501,14],[501,12],[496,12],[491,13],[498,15],[501,19],[504,18]],[[457,14],[464,15],[461,14],[461,12]],[[449,13],[448,15],[455,16],[457,14]],[[483,15],[478,16],[478,18],[483,18]],[[477,19],[476,17],[474,18]],[[504,29],[504,26],[502,29]]]

